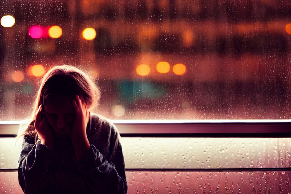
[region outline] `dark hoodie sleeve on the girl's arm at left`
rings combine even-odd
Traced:
[[[45,193],[54,172],[58,154],[55,150],[24,138],[18,161],[18,181],[26,194]]]

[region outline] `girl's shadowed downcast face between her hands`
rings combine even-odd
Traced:
[[[72,99],[64,95],[49,95],[45,98],[44,109],[55,136],[69,136],[75,120]]]

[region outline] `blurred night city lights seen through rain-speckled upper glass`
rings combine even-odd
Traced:
[[[289,0],[0,0],[0,120],[74,65],[110,119],[291,119]]]

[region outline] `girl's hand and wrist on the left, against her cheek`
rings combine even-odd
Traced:
[[[53,149],[54,134],[52,128],[48,122],[48,119],[45,116],[45,112],[42,108],[42,105],[38,107],[35,115],[34,127],[38,136],[41,140],[41,143],[45,146]]]

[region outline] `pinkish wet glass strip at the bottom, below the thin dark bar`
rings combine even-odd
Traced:
[[[17,171],[0,172],[0,192],[23,193]],[[291,172],[126,172],[127,193],[291,193]]]

